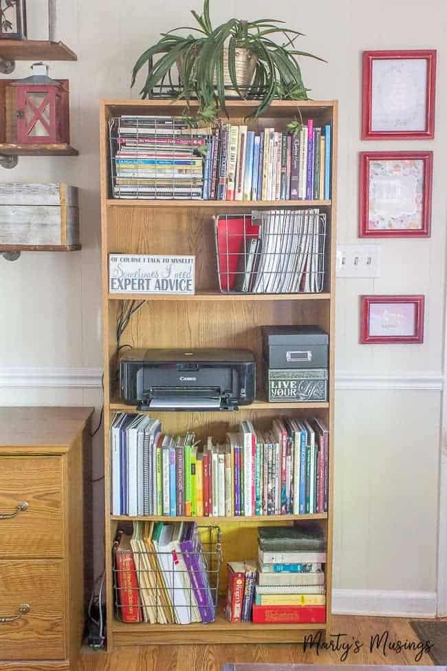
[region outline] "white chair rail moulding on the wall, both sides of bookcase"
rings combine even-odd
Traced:
[[[100,387],[101,368],[0,367],[0,388],[15,387]],[[402,375],[336,373],[336,390],[426,390],[441,392],[444,377],[437,373]]]

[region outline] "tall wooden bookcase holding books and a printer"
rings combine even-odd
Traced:
[[[256,101],[230,100],[231,123],[242,123],[250,115]],[[199,438],[211,431],[217,438],[225,436],[228,427],[241,418],[250,418],[257,425],[270,425],[275,416],[298,418],[320,417],[334,436],[334,287],[336,258],[336,151],[337,111],[334,100],[274,101],[257,120],[248,120],[252,130],[278,125],[279,129],[301,114],[303,120],[314,118],[316,125],[331,123],[333,127],[333,170],[331,200],[281,202],[216,202],[202,200],[121,200],[111,198],[109,178],[108,120],[120,114],[182,114],[181,100],[103,100],[100,106],[101,141],[101,211],[102,211],[102,317],[105,363],[105,556],[107,576],[108,648],[155,643],[297,643],[311,631],[329,630],[331,621],[332,584],[332,515],[334,445],[329,455],[329,512],[318,515],[272,515],[252,518],[197,518],[200,524],[217,524],[222,531],[223,564],[248,559],[256,550],[257,526],[260,524],[291,524],[297,519],[318,520],[327,535],[327,619],[326,624],[276,625],[231,624],[223,617],[219,605],[215,622],[210,624],[151,625],[125,624],[114,613],[111,566],[111,545],[119,525],[133,520],[184,520],[186,518],[128,518],[111,515],[109,426],[114,412],[135,412],[116,396],[116,319],[120,301],[144,301],[135,312],[122,337],[122,344],[147,348],[235,347],[254,351],[258,364],[257,401],[236,412],[162,412],[164,431],[183,433],[193,430]],[[299,112],[298,112],[299,110]],[[320,207],[328,216],[327,277],[320,294],[246,294],[219,292],[215,263],[215,242],[212,215],[225,212],[246,212],[272,207]],[[113,295],[109,293],[109,253],[194,254],[196,291],[193,296]],[[273,324],[316,324],[330,334],[329,402],[268,403],[263,390],[261,326]],[[187,518],[190,520],[190,518]],[[241,543],[235,543],[237,534]],[[235,535],[236,534],[236,535]],[[226,542],[228,541],[228,546]],[[248,547],[250,555],[247,554]],[[221,575],[222,572],[221,572]],[[222,581],[221,581],[222,583]],[[221,584],[221,592],[226,586]]]

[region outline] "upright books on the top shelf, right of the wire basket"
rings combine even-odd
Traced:
[[[224,124],[212,133],[204,164],[204,200],[329,200],[331,125],[309,119],[301,130]]]

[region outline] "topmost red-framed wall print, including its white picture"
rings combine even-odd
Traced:
[[[362,140],[435,135],[436,51],[363,52]]]

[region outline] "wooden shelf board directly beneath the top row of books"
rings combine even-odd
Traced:
[[[204,207],[212,209],[240,210],[246,207],[330,207],[330,200],[138,200],[109,198],[109,207]]]

